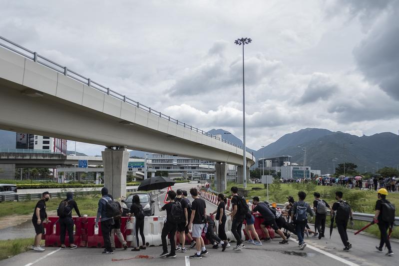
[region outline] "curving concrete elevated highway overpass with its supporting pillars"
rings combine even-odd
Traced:
[[[227,183],[226,163],[243,166],[241,147],[0,39],[0,128],[106,146],[105,186],[112,195],[125,192],[126,149],[217,162],[220,190]],[[248,169],[255,158],[245,156]],[[242,172],[238,179],[246,182]]]

